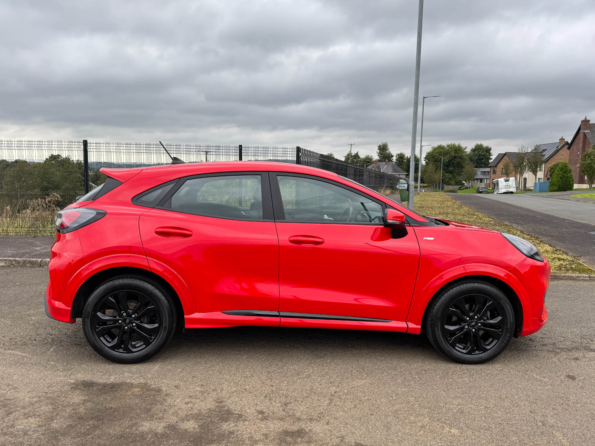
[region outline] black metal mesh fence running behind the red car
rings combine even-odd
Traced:
[[[165,144],[185,162],[275,161],[335,172],[364,186],[394,187],[395,175],[302,147]],[[55,213],[105,181],[102,167],[170,164],[159,143],[0,140],[0,234],[54,235]]]

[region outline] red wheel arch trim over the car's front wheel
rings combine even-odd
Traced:
[[[421,332],[421,322],[424,318],[425,309],[440,288],[456,279],[477,275],[500,279],[509,285],[521,301],[523,326],[531,325],[531,300],[524,285],[515,275],[499,266],[488,265],[486,263],[468,263],[466,265],[458,265],[447,269],[429,280],[424,280],[422,278],[422,272],[419,272],[413,299],[411,300],[411,306],[409,307],[407,316],[407,325],[409,327],[408,333],[419,334]],[[422,280],[423,282],[421,282]],[[425,283],[425,285],[418,286],[420,282],[422,284]]]

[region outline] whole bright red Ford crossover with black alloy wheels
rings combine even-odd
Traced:
[[[58,212],[45,306],[95,351],[148,359],[176,328],[420,334],[462,363],[547,319],[550,266],[514,235],[430,218],[332,172],[259,161],[101,169]]]

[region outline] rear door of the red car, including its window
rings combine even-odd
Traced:
[[[156,259],[176,271],[199,313],[278,316],[278,240],[267,174],[264,180],[259,172],[181,178],[140,217],[149,265]]]

